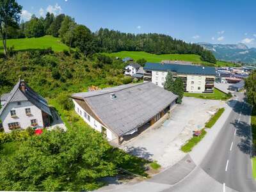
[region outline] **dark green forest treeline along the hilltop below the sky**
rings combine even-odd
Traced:
[[[17,30],[9,29],[8,38],[31,38],[44,35],[60,37],[69,47],[77,47],[85,55],[95,52],[145,51],[153,54],[198,54],[202,61],[216,63],[211,51],[197,44],[188,44],[169,35],[157,33],[122,33],[100,28],[92,33],[84,25],[77,24],[68,15],[54,16],[47,13],[45,18],[35,15],[27,22],[21,22]]]

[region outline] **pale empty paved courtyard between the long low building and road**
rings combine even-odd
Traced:
[[[163,168],[172,166],[186,154],[180,147],[193,131],[202,129],[216,109],[225,106],[220,100],[184,97],[158,129],[150,129],[120,148],[136,156],[157,160]]]

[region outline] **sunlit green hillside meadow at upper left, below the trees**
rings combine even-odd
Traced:
[[[14,46],[15,51],[28,51],[31,49],[47,49],[52,47],[52,51],[68,50],[68,46],[61,43],[60,38],[56,38],[50,35],[42,36],[38,38],[17,38],[8,39],[7,46]],[[3,44],[0,46],[0,52],[3,52]]]

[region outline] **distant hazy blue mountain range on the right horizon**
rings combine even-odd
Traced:
[[[211,51],[218,60],[256,65],[256,48],[249,48],[245,44],[198,44]]]

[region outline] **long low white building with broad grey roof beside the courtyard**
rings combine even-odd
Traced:
[[[153,83],[124,84],[72,95],[75,110],[111,141],[152,125],[175,104],[177,95]]]

